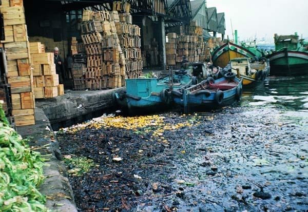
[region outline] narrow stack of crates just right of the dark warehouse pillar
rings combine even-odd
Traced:
[[[168,43],[166,43],[166,65],[175,66],[177,57],[177,33],[169,32]]]

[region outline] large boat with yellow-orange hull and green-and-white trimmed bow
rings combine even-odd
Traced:
[[[252,47],[249,47],[252,48]],[[246,46],[239,46],[237,44],[227,41],[224,45],[215,49],[211,53],[212,62],[214,66],[225,67],[230,60],[238,57],[250,57],[259,60],[259,57],[262,57],[262,53],[256,54],[258,51],[252,52]]]

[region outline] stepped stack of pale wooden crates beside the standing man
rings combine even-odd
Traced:
[[[35,99],[63,95],[63,84],[59,85],[59,76],[55,73],[53,53],[45,53],[40,42],[30,43],[30,53]]]

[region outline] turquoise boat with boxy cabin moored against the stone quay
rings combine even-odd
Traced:
[[[190,86],[196,79],[186,71],[176,71],[172,74],[172,83],[169,76],[165,78],[138,78],[126,79],[126,91],[114,93],[114,101],[129,113],[153,112],[171,106],[172,98],[169,92],[173,89]]]

